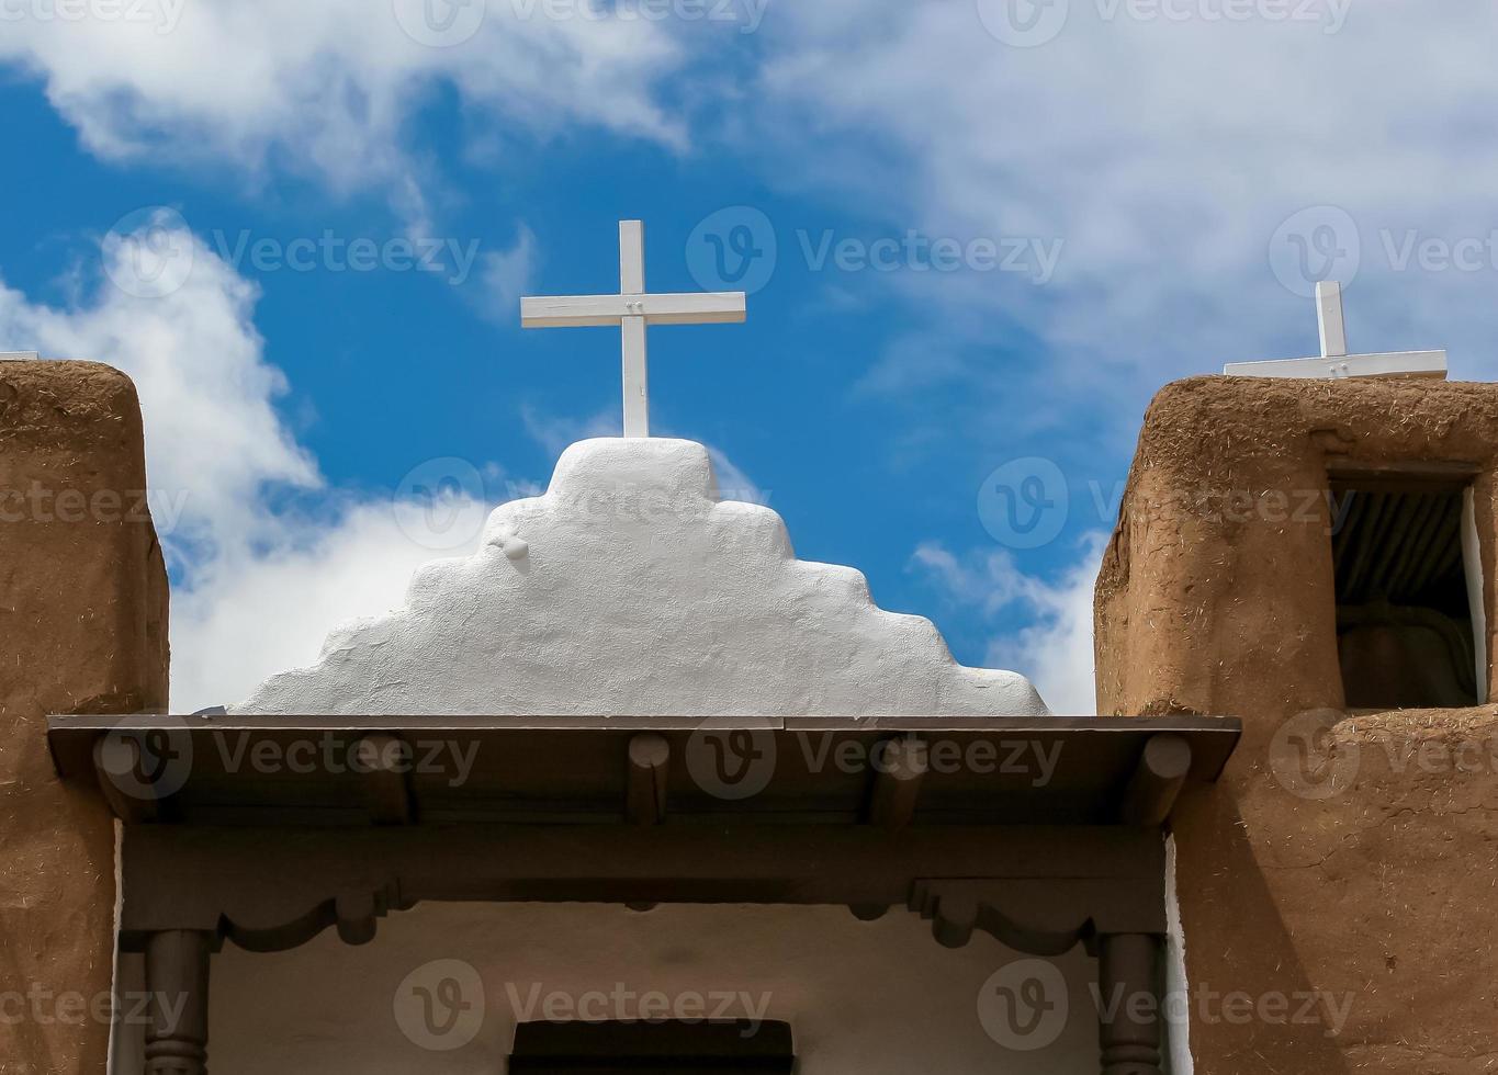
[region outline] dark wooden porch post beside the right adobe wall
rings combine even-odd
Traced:
[[[1161,1075],[1161,939],[1098,937],[1098,1038],[1103,1075]]]

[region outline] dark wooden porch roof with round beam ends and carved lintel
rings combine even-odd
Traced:
[[[1240,731],[220,714],[61,716],[48,740],[60,776],[96,783],[124,822],[120,943],[163,981],[205,990],[223,939],[280,951],[336,927],[364,943],[391,910],[484,900],[903,906],[944,945],[1083,942],[1106,978],[1153,990],[1162,826]],[[1110,1033],[1134,1063],[1158,1027],[1104,1026],[1104,1071]]]

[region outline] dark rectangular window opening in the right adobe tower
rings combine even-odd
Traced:
[[[1333,476],[1336,641],[1350,710],[1477,705],[1465,476]]]

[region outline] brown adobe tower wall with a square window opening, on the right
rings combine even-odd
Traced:
[[[1173,822],[1200,1074],[1498,1054],[1498,707],[1339,713],[1324,496],[1329,463],[1479,464],[1491,654],[1495,446],[1494,385],[1197,377],[1149,407],[1097,584],[1098,707],[1246,726]]]

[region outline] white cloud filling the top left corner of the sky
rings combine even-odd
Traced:
[[[339,190],[391,192],[425,228],[425,175],[407,127],[451,85],[478,115],[548,138],[566,123],[685,145],[653,82],[682,58],[644,19],[548,18],[553,4],[478,0],[445,36],[425,0],[141,0],[13,4],[0,63],[40,78],[84,145],[106,159],[286,166]],[[586,4],[577,4],[583,9]],[[452,12],[449,12],[452,13]],[[472,36],[464,34],[472,30]],[[433,43],[424,43],[433,42]]]

